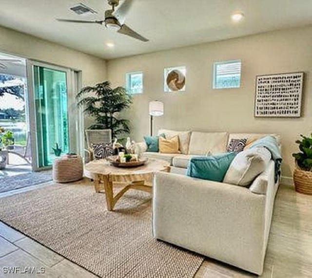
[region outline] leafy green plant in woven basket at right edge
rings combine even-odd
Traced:
[[[312,195],[312,134],[300,136],[302,139],[296,141],[300,152],[292,154],[296,160],[293,182],[297,192]]]

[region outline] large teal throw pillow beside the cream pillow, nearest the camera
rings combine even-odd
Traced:
[[[234,152],[228,152],[192,157],[187,167],[187,175],[193,178],[222,182],[235,155]]]

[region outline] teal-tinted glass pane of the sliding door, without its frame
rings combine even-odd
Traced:
[[[34,100],[38,167],[50,166],[55,154],[69,152],[66,72],[34,65]]]

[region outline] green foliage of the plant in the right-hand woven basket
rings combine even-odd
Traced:
[[[293,153],[292,156],[296,159],[297,165],[305,171],[312,169],[312,134],[311,137],[306,137],[300,134],[302,140],[296,140],[299,144],[300,152]]]

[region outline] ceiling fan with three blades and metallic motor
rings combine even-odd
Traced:
[[[72,19],[57,19],[62,22],[73,22],[73,23],[93,23],[100,24],[104,23],[106,28],[116,29],[118,33],[130,37],[134,37],[141,41],[148,41],[147,38],[141,36],[126,24],[123,24],[126,14],[128,13],[133,0],[124,0],[117,10],[115,8],[119,5],[119,0],[108,0],[108,4],[112,6],[112,9],[105,11],[104,20],[72,20]]]

